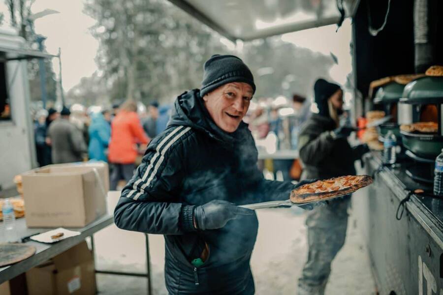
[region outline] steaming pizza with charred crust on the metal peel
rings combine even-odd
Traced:
[[[290,200],[296,204],[324,201],[348,195],[362,187],[370,185],[373,181],[369,175],[348,175],[317,180],[316,182],[304,184],[292,190]]]

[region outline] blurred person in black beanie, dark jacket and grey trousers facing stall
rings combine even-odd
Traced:
[[[369,151],[367,145],[351,148],[348,136],[355,130],[339,126],[343,113],[343,90],[340,86],[318,79],[314,85],[318,114],[302,126],[298,147],[303,162],[301,179],[327,179],[355,175],[354,161]],[[331,262],[345,243],[350,195],[328,201],[309,212],[309,253],[298,295],[322,295],[331,271]]]

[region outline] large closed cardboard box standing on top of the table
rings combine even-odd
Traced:
[[[48,165],[22,177],[28,227],[81,228],[106,213],[104,162]]]

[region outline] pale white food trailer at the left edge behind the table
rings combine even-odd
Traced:
[[[28,80],[28,59],[53,56],[29,50],[14,29],[0,29],[0,190],[13,178],[37,167]]]

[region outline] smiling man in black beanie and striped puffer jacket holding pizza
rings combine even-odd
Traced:
[[[297,186],[264,180],[257,169],[257,149],[242,121],[254,91],[241,59],[211,57],[201,89],[177,98],[166,130],[122,191],[115,223],[164,235],[170,294],[254,293],[258,221],[236,205],[287,200]]]

